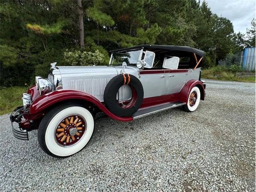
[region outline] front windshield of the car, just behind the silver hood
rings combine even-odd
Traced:
[[[113,53],[112,55],[112,65],[121,65],[122,62],[126,62],[128,65],[136,65],[140,59],[140,51],[128,51],[123,53]]]

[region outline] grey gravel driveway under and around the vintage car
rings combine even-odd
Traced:
[[[255,191],[255,84],[206,80],[193,113],[96,120],[90,143],[65,159],[12,136],[0,116],[0,191]]]

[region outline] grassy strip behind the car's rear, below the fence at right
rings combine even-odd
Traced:
[[[202,78],[255,83],[255,76],[236,77],[228,68],[220,66],[202,70]]]

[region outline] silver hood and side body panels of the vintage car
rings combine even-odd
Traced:
[[[123,72],[122,66],[58,66],[55,70],[58,70],[61,75],[63,89],[84,91],[100,102],[104,101],[104,90],[110,79]],[[186,82],[198,80],[200,75],[200,68],[188,70],[188,72],[174,70],[175,73],[165,73],[165,70],[162,71],[163,73],[158,74],[140,74],[140,69],[136,66],[127,66],[125,69],[126,73],[136,76],[142,83],[144,98],[180,92]],[[130,98],[130,88],[122,86],[118,92],[118,100],[124,101]]]

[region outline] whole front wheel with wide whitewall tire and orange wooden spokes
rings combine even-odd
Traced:
[[[53,157],[71,156],[86,146],[94,131],[92,113],[75,103],[50,110],[40,122],[38,142]]]

